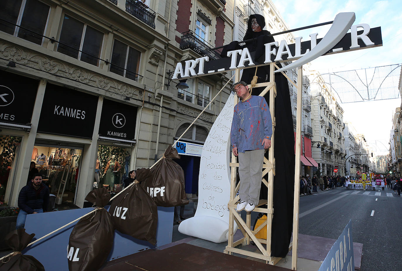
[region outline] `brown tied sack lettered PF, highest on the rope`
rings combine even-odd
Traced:
[[[172,159],[180,159],[180,156],[176,149],[169,146],[148,177],[142,180],[137,176],[157,206],[172,207],[189,203],[184,190],[183,169]]]

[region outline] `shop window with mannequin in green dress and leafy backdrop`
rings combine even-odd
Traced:
[[[99,145],[94,187],[102,185],[111,192],[119,189],[128,176],[131,148]]]

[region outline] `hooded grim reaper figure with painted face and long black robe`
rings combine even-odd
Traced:
[[[233,41],[222,50],[221,56],[226,57],[228,51],[247,48],[251,55],[254,52],[254,63],[263,63],[265,59],[265,43],[274,42],[271,33],[263,30],[265,18],[260,14],[252,14],[248,19],[248,27],[244,35],[245,45],[239,45]],[[277,63],[282,67],[280,63]],[[256,68],[243,69],[240,81],[247,84],[255,74]],[[257,83],[269,82],[269,65],[259,66],[256,75]],[[275,98],[275,132],[274,132],[274,157],[275,176],[273,182],[273,221],[271,236],[271,256],[285,257],[290,244],[293,230],[293,191],[295,177],[295,153],[294,132],[289,84],[282,73],[275,73],[277,96]],[[253,94],[258,95],[264,88],[253,88]],[[264,96],[269,104],[269,93]],[[265,153],[268,158],[268,152]],[[260,199],[267,199],[267,187],[261,183]]]

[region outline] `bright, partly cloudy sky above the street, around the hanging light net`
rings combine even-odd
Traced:
[[[320,73],[402,63],[401,0],[272,1],[289,29],[334,20],[339,12],[355,12],[355,24],[367,23],[371,28],[381,26],[382,47],[319,57],[311,62],[311,68]],[[329,27],[330,25],[320,26],[294,32],[293,35],[310,40],[310,33],[318,33],[318,38],[322,38]],[[389,146],[393,112],[400,105],[400,99],[341,104],[345,110],[344,119],[351,121],[357,132],[365,134],[366,140],[377,150],[377,154],[384,154]]]

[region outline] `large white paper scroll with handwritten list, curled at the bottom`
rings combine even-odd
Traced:
[[[180,223],[178,231],[211,242],[228,240],[230,199],[230,127],[234,93],[212,125],[201,154],[198,205],[195,216]],[[236,232],[235,224],[234,231]]]

